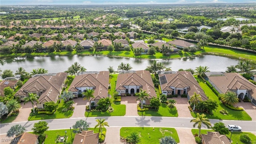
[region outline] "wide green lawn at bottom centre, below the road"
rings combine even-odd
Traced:
[[[132,132],[140,134],[142,144],[159,144],[159,139],[164,136],[172,136],[177,143],[180,142],[177,131],[174,128],[154,128],[153,130],[153,128],[146,127],[122,127],[120,136],[126,138]]]

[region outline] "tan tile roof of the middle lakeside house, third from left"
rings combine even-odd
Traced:
[[[116,80],[116,90],[125,90],[124,86],[141,86],[142,90],[146,90],[149,98],[156,97],[154,84],[147,70],[139,70],[128,74],[118,74]]]

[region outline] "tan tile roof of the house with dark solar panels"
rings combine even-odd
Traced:
[[[208,99],[191,72],[178,71],[177,74],[159,74],[159,79],[162,76],[165,76],[167,80],[166,83],[161,84],[162,90],[170,90],[170,87],[187,88],[190,97],[196,92],[196,94],[200,94],[202,100]]]

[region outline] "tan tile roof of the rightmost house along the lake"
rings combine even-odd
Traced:
[[[240,74],[236,72],[217,72],[217,75],[210,73],[206,72],[206,76],[222,93],[225,94],[228,90],[248,90],[250,95],[256,98],[256,86]]]

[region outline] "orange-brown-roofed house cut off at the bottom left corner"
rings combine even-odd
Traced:
[[[13,138],[10,144],[39,144],[38,135],[24,132]]]

